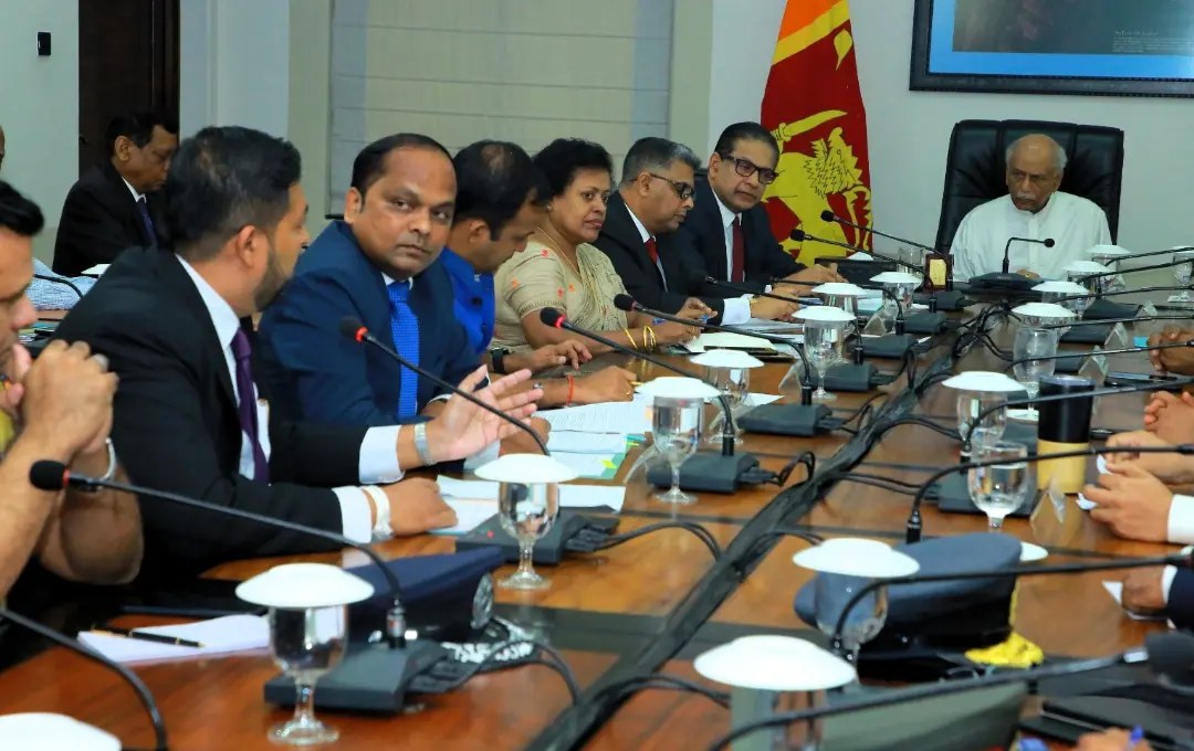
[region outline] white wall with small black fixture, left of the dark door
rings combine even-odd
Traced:
[[[51,55],[37,56],[49,31]],[[54,244],[67,191],[79,178],[78,0],[0,0],[0,126],[7,156],[0,176],[45,215],[37,243]]]

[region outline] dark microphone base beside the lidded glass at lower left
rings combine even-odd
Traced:
[[[448,650],[421,639],[395,648],[387,644],[353,643],[340,664],[320,677],[315,708],[398,713],[402,709],[411,681],[447,657]],[[285,675],[271,678],[265,684],[265,701],[293,707],[294,678]]]

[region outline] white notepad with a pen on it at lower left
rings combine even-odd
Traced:
[[[224,615],[195,623],[153,626],[137,631],[198,641],[203,646],[185,647],[174,644],[159,644],[91,631],[79,632],[79,641],[118,663],[214,657],[261,650],[270,645],[270,625],[260,615]]]

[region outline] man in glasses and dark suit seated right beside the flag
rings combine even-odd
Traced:
[[[762,292],[773,279],[808,285],[844,281],[824,266],[805,268],[788,254],[775,235],[763,209],[763,193],[775,181],[780,147],[758,123],[736,123],[724,131],[709,156],[708,179],[696,181],[696,204],[673,235],[660,241],[660,255],[671,243],[688,243],[715,279]],[[796,294],[798,287],[781,292]],[[724,287],[709,286],[713,297],[738,297]]]

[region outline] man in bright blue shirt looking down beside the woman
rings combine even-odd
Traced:
[[[493,337],[496,299],[493,273],[527,248],[531,231],[543,223],[547,186],[530,156],[513,143],[479,141],[461,149],[456,168],[456,213],[439,262],[453,283],[456,319],[469,346],[487,354],[491,370],[531,372],[592,358],[587,347],[570,340],[517,353],[488,349]],[[540,381],[541,406],[628,399],[634,374],[607,367],[591,376]]]

